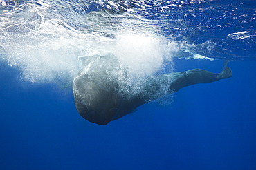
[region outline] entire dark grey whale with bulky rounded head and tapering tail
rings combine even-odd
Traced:
[[[91,123],[107,125],[134,111],[140,105],[188,85],[211,83],[232,76],[225,61],[223,70],[214,74],[201,69],[161,74],[138,81],[125,82],[125,70],[115,56],[91,56],[84,59],[73,80],[73,95],[78,113]]]

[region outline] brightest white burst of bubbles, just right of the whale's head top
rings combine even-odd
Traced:
[[[143,34],[119,34],[113,50],[131,74],[148,76],[163,65],[160,39]]]

